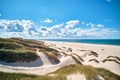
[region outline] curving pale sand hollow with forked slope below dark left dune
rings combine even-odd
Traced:
[[[41,57],[39,60],[43,62],[42,66],[34,66],[31,64],[31,67],[25,66],[26,64],[24,63],[5,63],[2,64],[3,62],[0,62],[0,71],[3,72],[15,72],[15,73],[27,73],[27,74],[36,74],[36,75],[44,75],[53,71],[56,71],[57,69],[69,65],[69,64],[75,64],[75,61],[70,57],[61,57],[60,58],[60,63],[56,65],[52,65],[51,62],[48,60],[47,56],[44,55],[43,53],[39,52],[37,49],[36,53]],[[38,60],[32,62],[34,64],[37,63]],[[69,62],[68,62],[69,61]],[[67,64],[66,64],[67,63]],[[5,65],[6,64],[6,65]],[[10,65],[9,65],[10,64]],[[22,66],[15,66],[14,64],[21,65]],[[27,63],[29,65],[29,63]]]

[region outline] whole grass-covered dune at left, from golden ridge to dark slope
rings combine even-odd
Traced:
[[[39,58],[35,52],[36,46],[44,46],[44,43],[22,38],[0,38],[0,61],[34,61]]]

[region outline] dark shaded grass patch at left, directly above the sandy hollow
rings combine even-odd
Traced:
[[[30,62],[35,61],[39,56],[33,51],[27,50],[0,50],[0,61],[5,62]]]

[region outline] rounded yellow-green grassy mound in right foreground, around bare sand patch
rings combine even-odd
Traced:
[[[53,73],[57,74],[58,76],[62,75],[64,77],[63,80],[66,80],[67,75],[74,74],[76,72],[84,74],[86,77],[86,80],[99,80],[98,75],[102,76],[105,80],[119,80],[120,79],[119,75],[116,75],[106,69],[94,68],[89,65],[80,65],[80,64],[65,66],[65,67],[58,69],[57,71]]]

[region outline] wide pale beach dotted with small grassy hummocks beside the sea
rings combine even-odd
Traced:
[[[47,41],[46,44],[54,45],[50,47],[55,48],[60,51],[64,50],[64,52],[68,54],[70,53],[78,54],[84,59],[84,62],[83,62],[84,65],[92,65],[94,67],[105,68],[105,69],[112,71],[113,73],[120,75],[120,64],[117,64],[115,62],[109,62],[109,61],[105,63],[102,62],[108,56],[118,56],[120,58],[120,46],[55,42],[55,41]],[[67,48],[72,48],[72,52],[68,52]],[[86,51],[80,51],[80,50],[86,50]],[[88,55],[89,50],[98,53],[98,57],[95,57],[93,55],[89,56]],[[96,59],[99,61],[99,63],[94,62],[94,61],[89,62],[90,59]]]

